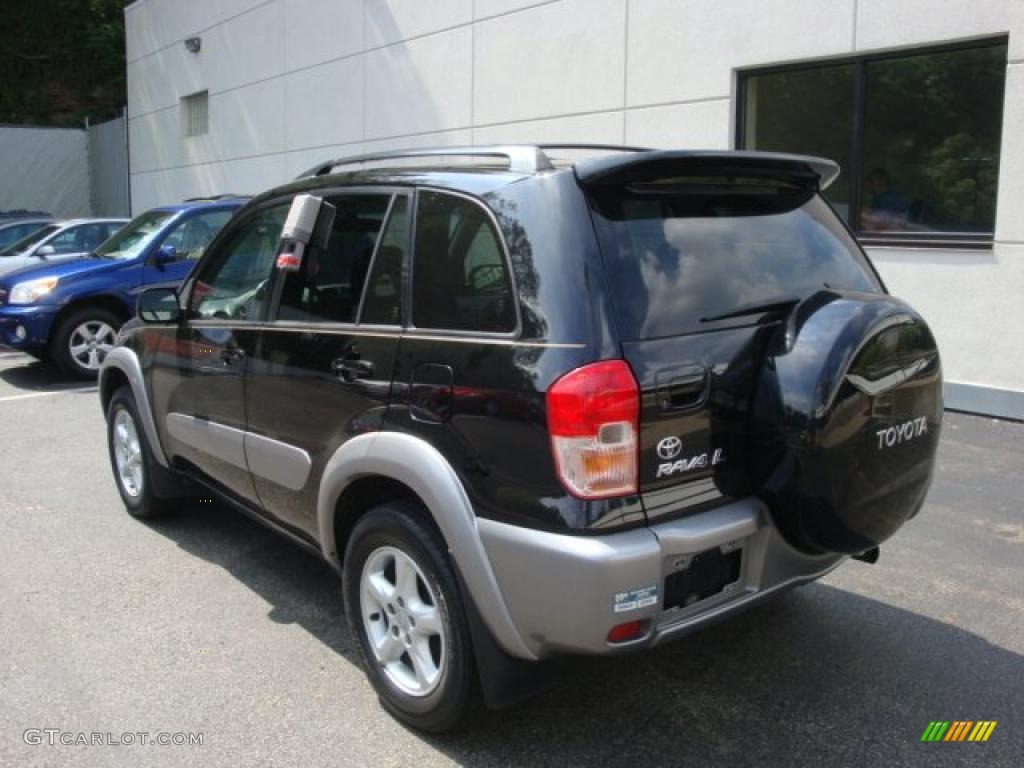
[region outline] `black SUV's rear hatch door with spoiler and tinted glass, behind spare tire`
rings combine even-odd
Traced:
[[[821,199],[827,161],[642,153],[578,165],[622,343],[641,388],[648,520],[750,487],[752,394],[771,337],[822,288],[883,287]]]

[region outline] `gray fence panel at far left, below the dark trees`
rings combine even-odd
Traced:
[[[88,138],[74,128],[0,126],[0,210],[88,216]]]

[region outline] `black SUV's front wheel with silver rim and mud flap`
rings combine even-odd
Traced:
[[[153,518],[180,504],[180,496],[157,494],[158,483],[163,488],[180,487],[182,495],[185,488],[153,458],[131,387],[118,389],[106,407],[106,446],[114,483],[128,514],[141,519]]]

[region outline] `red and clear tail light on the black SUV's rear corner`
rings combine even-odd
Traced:
[[[558,477],[572,496],[637,490],[640,389],[625,360],[567,373],[548,389],[548,430]]]

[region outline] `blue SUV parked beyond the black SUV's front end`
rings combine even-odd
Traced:
[[[176,287],[247,198],[188,201],[136,216],[87,256],[0,278],[0,343],[94,378],[146,288]]]

